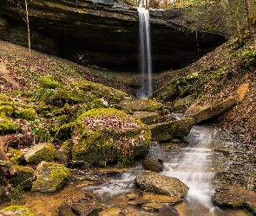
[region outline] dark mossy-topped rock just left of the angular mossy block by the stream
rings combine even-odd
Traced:
[[[13,187],[22,187],[30,189],[32,187],[32,181],[34,178],[34,169],[30,167],[15,166],[17,175],[10,179],[10,184]]]

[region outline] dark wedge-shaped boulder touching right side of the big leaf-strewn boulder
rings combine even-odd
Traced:
[[[187,137],[194,125],[194,118],[181,118],[158,124],[151,124],[149,128],[152,138],[157,141],[165,141],[174,137]]]

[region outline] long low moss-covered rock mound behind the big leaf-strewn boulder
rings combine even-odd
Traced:
[[[56,77],[45,77],[36,89],[35,97],[46,105],[63,106],[64,104],[84,104],[88,109],[107,104],[117,103],[127,96],[126,93],[111,87],[103,86],[90,81],[81,83],[66,83]]]

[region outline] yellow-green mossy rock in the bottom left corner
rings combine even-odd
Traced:
[[[26,206],[8,206],[0,210],[1,215],[13,215],[13,216],[34,216],[36,214]]]

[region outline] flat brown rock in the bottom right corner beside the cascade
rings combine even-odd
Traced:
[[[213,202],[220,206],[245,207],[256,214],[256,193],[244,187],[226,185],[216,189]]]

